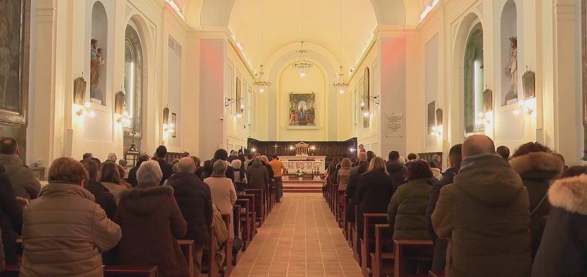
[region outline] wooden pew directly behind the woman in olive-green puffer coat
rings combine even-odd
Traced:
[[[433,243],[431,240],[394,240],[395,267],[394,277],[405,276],[404,266],[408,260],[432,260],[434,256]],[[410,275],[413,276],[413,275]],[[420,274],[417,276],[428,276]]]

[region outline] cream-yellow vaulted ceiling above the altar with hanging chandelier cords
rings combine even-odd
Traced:
[[[280,48],[300,42],[300,1],[264,0],[173,0],[192,27],[228,26],[251,65],[267,62]],[[304,40],[318,44],[339,59],[341,0],[303,0]],[[342,65],[354,66],[380,25],[415,26],[431,0],[342,0]],[[263,55],[260,57],[260,24]],[[341,61],[339,61],[341,62]]]

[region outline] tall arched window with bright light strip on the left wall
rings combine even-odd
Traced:
[[[124,125],[125,138],[132,137],[134,133],[135,139],[141,139],[142,96],[143,49],[135,28],[128,25],[125,33],[125,103],[131,120]]]

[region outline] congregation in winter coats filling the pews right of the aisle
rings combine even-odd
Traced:
[[[587,166],[568,168],[540,143],[510,156],[484,135],[453,145],[442,174],[440,155],[385,161],[359,149],[352,168],[347,158],[328,167],[324,190],[336,184],[359,238],[363,215],[387,213],[392,241],[433,242],[432,260],[408,275],[587,276]]]

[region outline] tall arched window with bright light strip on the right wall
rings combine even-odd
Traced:
[[[464,50],[464,125],[465,132],[482,132],[483,116],[483,28],[473,26]]]

